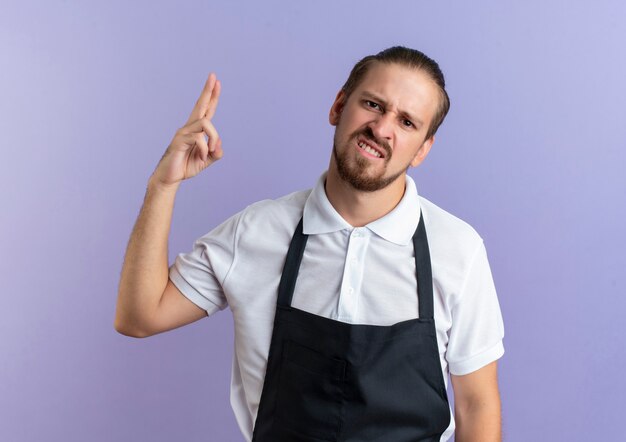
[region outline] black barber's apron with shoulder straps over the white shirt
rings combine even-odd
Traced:
[[[278,288],[253,442],[438,442],[450,408],[423,217],[413,235],[419,317],[390,326],[291,307],[306,241],[300,220]]]

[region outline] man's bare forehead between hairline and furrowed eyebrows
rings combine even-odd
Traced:
[[[430,123],[439,104],[439,87],[424,71],[399,64],[374,63],[352,95],[369,93],[385,100],[388,110],[415,115]]]

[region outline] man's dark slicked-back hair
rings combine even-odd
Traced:
[[[368,55],[354,65],[348,80],[346,80],[346,83],[341,88],[346,94],[346,98],[348,98],[361,81],[363,81],[365,74],[374,63],[395,63],[409,68],[419,69],[426,73],[437,84],[437,86],[439,86],[439,107],[437,108],[437,112],[435,113],[430,127],[428,128],[426,139],[435,135],[435,132],[437,132],[437,129],[439,129],[439,126],[443,123],[443,120],[450,109],[450,98],[446,92],[446,80],[444,79],[443,72],[441,72],[437,62],[425,55],[423,52],[416,49],[405,48],[404,46],[394,46],[385,49],[376,55]]]

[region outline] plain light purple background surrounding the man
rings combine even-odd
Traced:
[[[385,6],[383,6],[385,5]],[[240,441],[221,312],[146,340],[113,318],[148,177],[204,80],[224,159],[179,191],[170,262],[311,187],[351,66],[394,44],[446,73],[420,193],[485,239],[508,441],[623,440],[621,1],[3,2],[0,440]]]

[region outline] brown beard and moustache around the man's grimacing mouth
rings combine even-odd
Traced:
[[[354,162],[348,161],[348,156],[352,155],[350,144],[355,143],[358,136],[374,141],[385,150],[385,167],[383,167],[382,170],[375,175],[368,173],[368,169],[371,168],[372,164],[361,155],[355,155]],[[377,190],[384,189],[395,180],[397,180],[398,177],[405,173],[406,169],[408,169],[407,165],[405,169],[401,169],[399,172],[394,173],[390,176],[385,176],[387,164],[389,164],[389,160],[391,160],[391,148],[386,141],[376,139],[372,132],[372,129],[370,129],[369,127],[352,133],[348,138],[346,145],[343,146],[343,149],[341,149],[341,151],[343,153],[340,154],[339,150],[337,149],[337,131],[335,130],[335,139],[333,141],[333,156],[337,165],[337,172],[339,174],[339,177],[350,186],[352,186],[355,190],[360,190],[362,192],[375,192]]]

